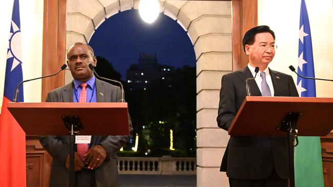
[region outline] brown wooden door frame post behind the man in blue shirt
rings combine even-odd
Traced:
[[[67,0],[44,0],[42,75],[56,73],[65,63]],[[64,72],[42,80],[41,101],[47,93],[65,83]]]

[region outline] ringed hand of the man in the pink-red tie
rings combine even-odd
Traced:
[[[95,169],[102,165],[107,157],[107,151],[101,145],[91,147],[86,154],[83,155],[82,161],[86,164],[89,163],[88,169]]]

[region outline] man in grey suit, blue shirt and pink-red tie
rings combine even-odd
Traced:
[[[89,68],[90,63],[94,66],[97,63],[89,45],[74,43],[68,50],[67,58],[74,80],[49,92],[47,102],[120,102],[120,88],[96,79]],[[83,84],[85,86],[81,87]],[[130,117],[129,122],[132,133]],[[91,136],[89,145],[80,144],[86,146],[82,153],[78,153],[77,144],[74,157],[75,186],[119,186],[116,152],[127,140],[128,136]],[[39,141],[53,158],[50,186],[68,186],[69,136],[42,136]]]

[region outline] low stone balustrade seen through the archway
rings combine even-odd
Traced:
[[[119,174],[196,175],[196,158],[118,157]]]

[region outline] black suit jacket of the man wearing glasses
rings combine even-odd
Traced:
[[[293,78],[269,69],[274,96],[298,97]],[[246,66],[222,77],[217,124],[228,130],[246,97],[245,80],[253,78]],[[255,81],[249,81],[254,96],[261,96]],[[262,111],[265,113],[264,109]],[[265,124],[262,124],[265,125]],[[289,177],[286,137],[231,136],[222,158],[220,171],[235,179],[265,179],[275,168],[284,179]]]

